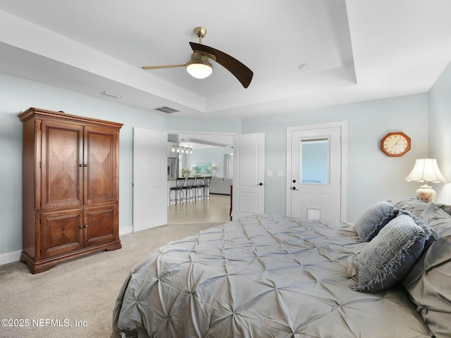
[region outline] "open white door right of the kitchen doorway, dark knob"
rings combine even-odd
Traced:
[[[265,134],[233,137],[233,220],[264,213]]]

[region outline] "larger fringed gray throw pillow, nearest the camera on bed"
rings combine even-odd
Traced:
[[[411,270],[431,236],[431,227],[409,215],[400,215],[383,227],[359,254],[359,292],[379,292],[398,284]]]

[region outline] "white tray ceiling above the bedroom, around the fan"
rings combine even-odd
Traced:
[[[249,118],[427,92],[451,61],[450,18],[447,0],[1,0],[0,71],[147,111]],[[249,88],[213,61],[204,80],[141,69],[189,61],[197,26],[254,71]]]

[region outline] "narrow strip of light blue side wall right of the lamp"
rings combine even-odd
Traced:
[[[429,91],[429,157],[451,180],[451,63]],[[432,183],[438,203],[451,204],[451,184]]]

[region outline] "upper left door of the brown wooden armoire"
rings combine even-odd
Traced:
[[[82,125],[42,122],[43,209],[83,204],[82,128]]]

